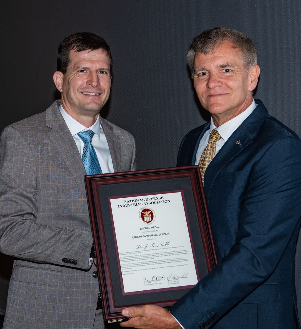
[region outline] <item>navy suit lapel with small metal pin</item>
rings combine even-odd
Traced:
[[[234,131],[206,169],[204,190],[207,202],[209,201],[210,191],[218,173],[234,157],[236,157],[252,143],[264,119],[268,115],[268,112],[262,102],[257,99],[255,101],[258,104],[255,110]],[[239,143],[236,143],[238,141]]]

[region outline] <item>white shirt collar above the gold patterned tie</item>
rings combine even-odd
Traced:
[[[234,118],[232,118],[231,120],[223,123],[218,128],[216,128],[213,119],[211,117],[210,132],[213,129],[216,129],[218,133],[221,135],[222,139],[224,139],[224,141],[227,141],[229,137],[234,133],[234,131],[242,124],[242,122],[255,110],[256,106],[257,104],[253,99],[253,102],[246,110],[234,116]]]

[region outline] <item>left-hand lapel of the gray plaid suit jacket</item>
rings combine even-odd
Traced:
[[[59,105],[59,101],[56,101],[46,110],[46,126],[52,129],[48,132],[48,136],[67,165],[78,186],[86,193],[84,182],[86,170],[74,139],[58,109]]]

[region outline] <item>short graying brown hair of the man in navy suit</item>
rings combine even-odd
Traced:
[[[246,71],[248,72],[251,66],[257,64],[257,50],[252,40],[244,33],[226,29],[224,27],[214,27],[202,32],[197,37],[193,38],[187,52],[187,62],[191,70],[192,76],[194,73],[194,57],[196,53],[204,55],[216,50],[225,41],[233,43],[234,48],[239,48],[242,55]]]

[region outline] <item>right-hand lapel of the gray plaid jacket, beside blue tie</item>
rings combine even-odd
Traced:
[[[100,117],[99,120],[109,145],[114,172],[121,171],[120,137],[114,133],[114,127],[107,120],[102,117]]]

